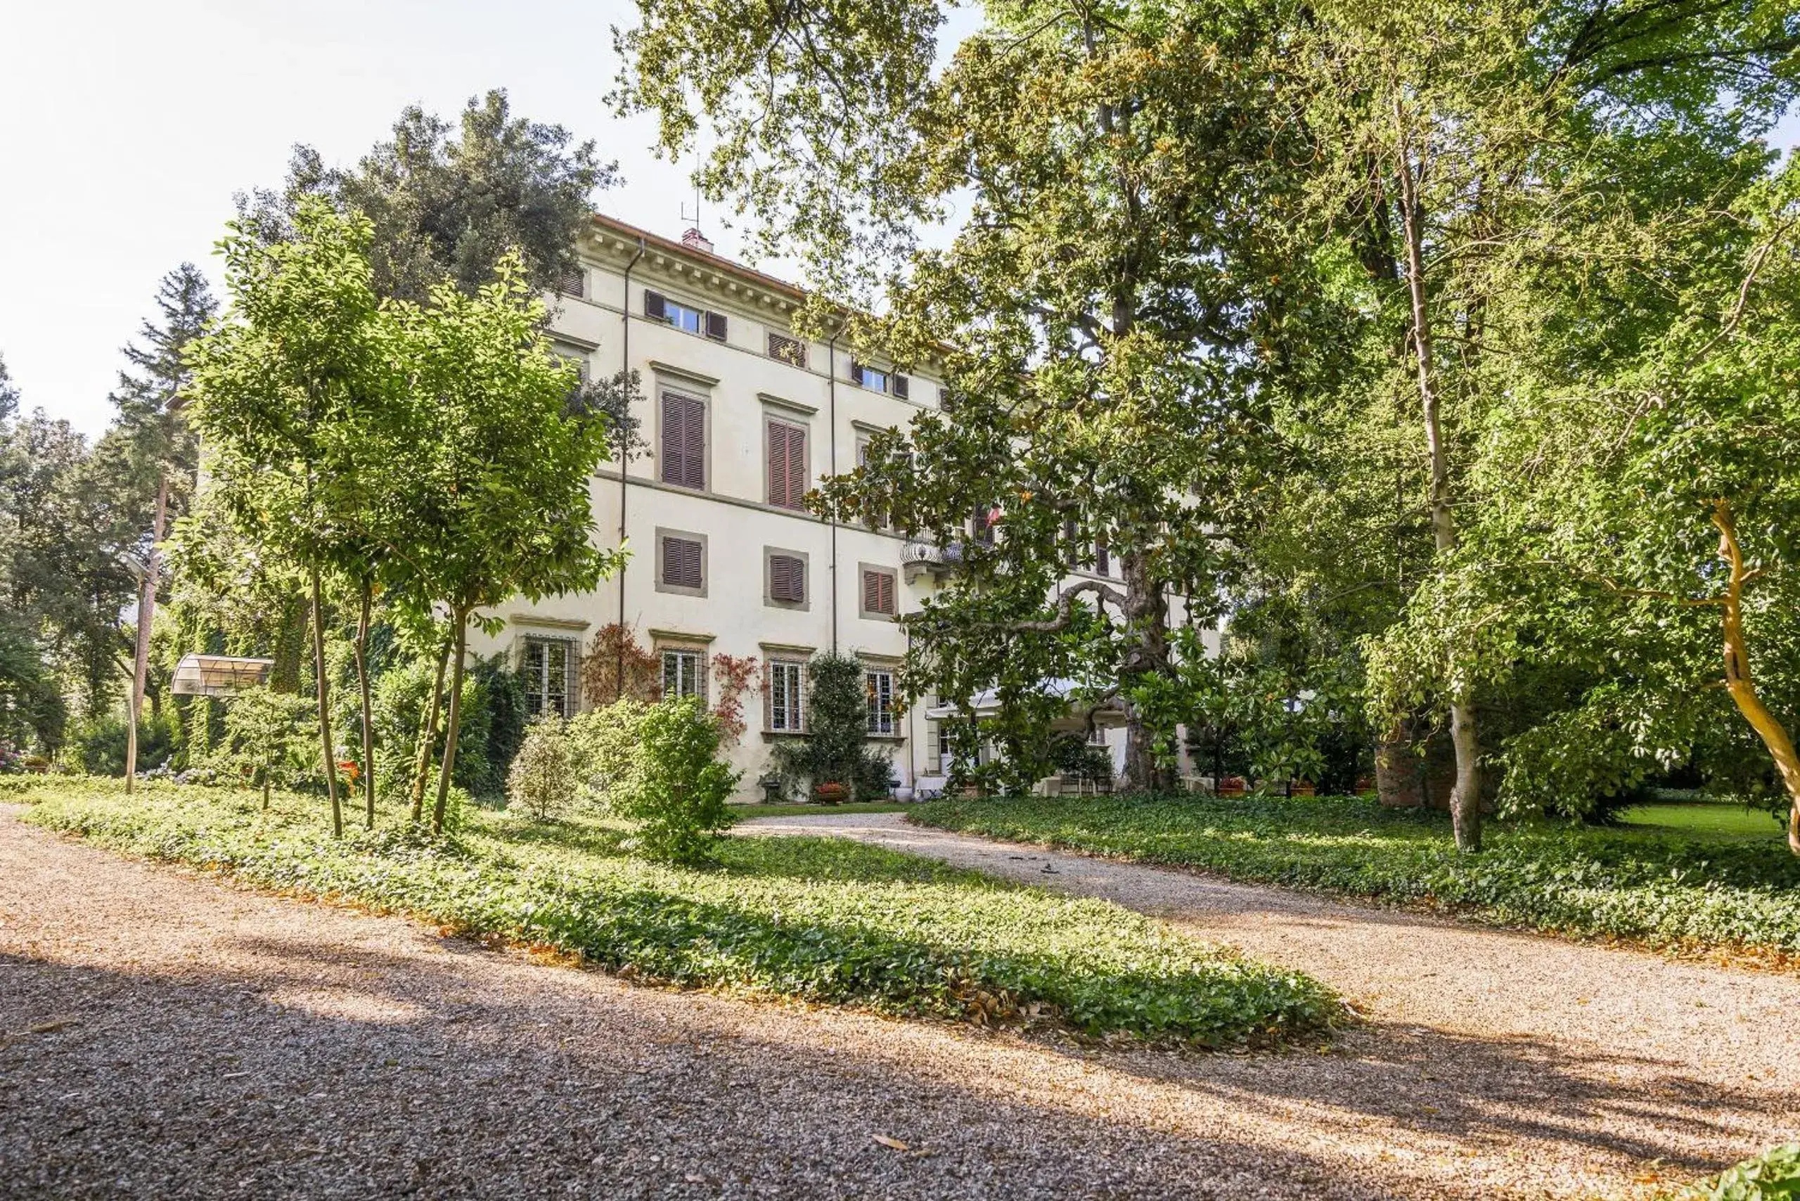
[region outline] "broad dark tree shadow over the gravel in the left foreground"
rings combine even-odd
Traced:
[[[0,956],[0,1196],[1445,1196],[1087,1116],[958,1073],[941,1032],[911,1028],[945,1044],[925,1068],[441,949],[232,940],[180,978]]]

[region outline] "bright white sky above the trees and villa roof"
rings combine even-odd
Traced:
[[[353,162],[405,104],[454,117],[493,86],[592,137],[625,187],[605,212],[679,236],[688,164],[616,121],[628,0],[63,0],[7,5],[0,36],[0,357],[23,405],[97,434],[157,281],[212,243],[232,194],[279,184],[295,142]],[[968,11],[954,29],[976,23]],[[952,34],[954,40],[954,34]],[[1782,146],[1800,137],[1784,124]],[[736,243],[704,221],[722,254]]]

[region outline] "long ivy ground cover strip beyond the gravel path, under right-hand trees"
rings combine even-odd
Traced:
[[[1363,798],[929,801],[914,821],[1219,871],[1503,926],[1652,945],[1800,954],[1800,861],[1780,837],[1490,823],[1458,855],[1449,817]]]

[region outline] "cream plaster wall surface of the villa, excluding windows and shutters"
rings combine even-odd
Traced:
[[[590,378],[612,376],[621,366],[641,375],[644,396],[634,416],[650,445],[625,465],[623,497],[617,463],[601,465],[590,488],[601,546],[617,546],[623,502],[626,569],[623,576],[603,580],[594,592],[535,605],[517,600],[502,607],[506,628],[491,637],[472,632],[472,650],[506,652],[515,664],[524,663],[526,639],[567,639],[585,650],[601,627],[621,621],[623,609],[623,623],[650,650],[679,646],[704,650],[707,659],[729,654],[767,661],[772,655],[805,659],[837,648],[875,668],[896,666],[905,654],[905,632],[889,618],[862,612],[862,567],[895,574],[902,612],[918,607],[931,587],[929,576],[907,582],[904,540],[895,535],[859,526],[833,529],[806,511],[770,504],[765,427],[779,420],[806,430],[806,475],[808,486],[815,486],[823,475],[855,466],[859,436],[884,427],[904,429],[914,412],[936,405],[936,376],[929,367],[909,373],[909,398],[902,400],[851,382],[850,353],[824,342],[806,348],[806,367],[770,358],[767,333],[790,333],[796,292],[725,259],[661,239],[646,239],[643,254],[639,250],[637,230],[596,223],[594,236],[583,243],[581,295],[556,297],[553,319],[558,349],[585,362]],[[648,319],[646,290],[695,310],[724,313],[725,340]],[[704,490],[662,481],[664,393],[706,405]],[[702,542],[698,591],[661,585],[659,533],[691,535]],[[803,603],[769,600],[765,562],[770,549],[806,562]],[[716,677],[707,684],[709,697],[716,699]],[[749,729],[733,753],[734,765],[745,771],[740,799],[758,796],[756,778],[767,771],[769,745],[781,736],[765,729],[765,697],[747,695]],[[909,713],[898,720],[895,736],[880,740],[893,747],[896,774],[907,787],[918,769],[932,774],[936,767],[923,762],[923,718]]]

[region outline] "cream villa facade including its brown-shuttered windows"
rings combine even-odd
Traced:
[[[907,648],[902,612],[936,587],[936,547],[826,522],[801,497],[855,468],[869,434],[905,429],[940,400],[925,364],[902,375],[841,346],[799,340],[803,293],[711,252],[689,230],[659,238],[596,216],[581,270],[556,297],[553,337],[590,378],[634,367],[634,409],[648,450],[621,474],[603,463],[590,495],[598,537],[630,549],[594,592],[502,607],[506,628],[472,632],[472,650],[506,652],[535,711],[574,713],[580,655],[612,623],[661,664],[666,691],[713,702],[713,655],[754,655],[758,691],[733,749],[738,799],[760,796],[769,747],[805,729],[805,663],[837,650],[862,661],[869,735],[893,751],[902,789],[941,785],[927,706],[902,711],[895,672]],[[1118,751],[1116,751],[1118,753]]]

